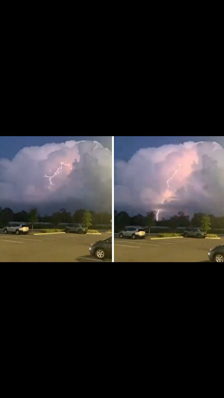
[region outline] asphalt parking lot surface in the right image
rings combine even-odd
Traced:
[[[224,244],[221,239],[149,239],[114,238],[114,261],[149,263],[197,263],[208,261],[208,251]]]

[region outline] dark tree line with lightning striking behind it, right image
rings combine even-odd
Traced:
[[[205,230],[216,230],[222,229],[224,233],[224,217],[215,217],[212,214],[206,215],[204,213],[195,213],[190,219],[188,215],[185,215],[183,211],[179,211],[177,215],[173,215],[169,219],[163,218],[162,220],[156,221],[156,214],[154,211],[149,211],[145,216],[138,214],[131,217],[126,211],[114,212],[114,232],[119,232],[128,225],[137,225],[143,227],[149,227],[159,230],[163,227],[164,230],[169,228],[169,231],[175,232],[177,228],[183,227],[197,227]],[[221,233],[221,232],[220,232]]]

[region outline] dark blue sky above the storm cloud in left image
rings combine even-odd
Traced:
[[[112,150],[112,137],[111,136],[2,136],[0,137],[0,158],[12,159],[16,153],[24,148],[24,146],[41,146],[51,142],[65,142],[69,140],[96,140],[103,146]]]

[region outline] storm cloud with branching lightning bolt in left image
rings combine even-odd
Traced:
[[[111,211],[111,203],[112,153],[99,142],[31,146],[12,160],[0,159],[1,207]]]

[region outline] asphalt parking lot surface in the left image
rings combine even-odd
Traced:
[[[0,233],[0,262],[102,263],[112,261],[111,259],[101,261],[89,255],[89,247],[92,243],[109,236],[108,234],[28,234],[17,236]]]

